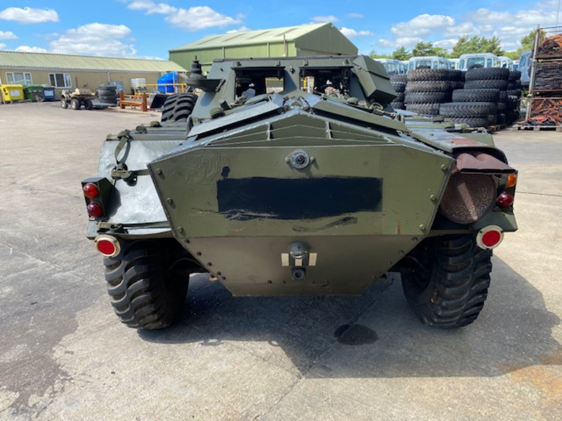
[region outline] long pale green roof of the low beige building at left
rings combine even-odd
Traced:
[[[65,70],[112,70],[142,72],[184,72],[177,63],[139,58],[74,56],[70,54],[0,51],[0,67],[60,68]]]

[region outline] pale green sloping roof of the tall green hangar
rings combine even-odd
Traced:
[[[285,36],[285,40],[293,41],[300,36],[306,35],[325,25],[332,24],[330,24],[330,22],[327,22],[324,24],[285,26],[284,28],[234,32],[223,35],[209,35],[192,43],[171,49],[170,52],[209,49],[217,47],[232,47],[233,45],[279,43],[283,42],[283,35]]]

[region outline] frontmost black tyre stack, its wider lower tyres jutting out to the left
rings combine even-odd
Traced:
[[[466,71],[464,89],[441,104],[439,114],[457,124],[488,127],[506,122],[509,69],[473,68]]]

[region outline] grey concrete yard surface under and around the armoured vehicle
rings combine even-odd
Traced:
[[[519,170],[519,231],[471,326],[423,326],[393,275],[300,298],[233,298],[197,275],[179,323],[135,331],[84,237],[80,181],[108,133],[158,118],[0,106],[0,419],[561,418],[560,133],[494,136]]]

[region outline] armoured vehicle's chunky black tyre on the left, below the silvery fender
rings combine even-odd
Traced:
[[[182,312],[189,273],[177,270],[169,241],[125,241],[119,255],[103,259],[111,305],[129,327],[161,329]]]

